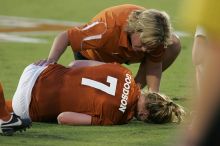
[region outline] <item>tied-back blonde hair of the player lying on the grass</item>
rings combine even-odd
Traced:
[[[146,93],[145,98],[148,99],[145,107],[149,111],[145,122],[162,124],[182,121],[185,111],[169,97],[159,93]]]

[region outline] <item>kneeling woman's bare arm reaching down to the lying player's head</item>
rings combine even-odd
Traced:
[[[159,92],[161,75],[162,63],[146,59],[140,64],[135,81],[141,84],[141,88],[147,83],[149,91]]]

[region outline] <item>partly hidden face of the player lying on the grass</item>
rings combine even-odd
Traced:
[[[137,103],[137,116],[140,121],[146,121],[149,116],[149,111],[146,109],[146,104],[149,102],[144,95],[141,95]]]

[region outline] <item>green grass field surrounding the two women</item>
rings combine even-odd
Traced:
[[[1,0],[0,15],[86,22],[100,10],[123,3],[165,10],[171,15],[174,28],[179,29],[176,27],[180,20],[178,17],[180,1],[176,0]],[[23,69],[28,64],[47,57],[55,34],[35,37],[49,41],[42,44],[0,41],[0,81],[3,83],[7,99],[12,98]],[[179,97],[180,100],[177,102],[188,107],[194,77],[191,65],[192,37],[181,38],[181,41],[180,56],[163,73],[161,92],[171,97]],[[69,48],[59,63],[67,65],[72,59]],[[135,74],[138,64],[127,67]],[[179,127],[176,124],[144,124],[135,120],[123,126],[103,127],[33,123],[32,128],[25,133],[16,133],[12,137],[0,136],[0,145],[170,146],[178,142],[176,132]]]

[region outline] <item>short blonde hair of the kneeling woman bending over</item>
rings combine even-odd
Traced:
[[[171,23],[166,12],[155,9],[135,10],[128,20],[126,30],[129,34],[140,33],[142,44],[149,47],[171,42]]]

